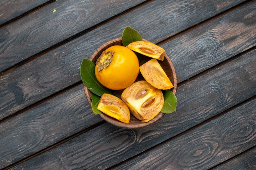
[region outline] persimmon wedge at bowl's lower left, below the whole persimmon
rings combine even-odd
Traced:
[[[129,123],[130,121],[130,111],[126,104],[111,94],[101,96],[97,109],[121,122]]]

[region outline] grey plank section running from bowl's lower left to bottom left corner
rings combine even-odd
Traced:
[[[0,124],[0,169],[100,121],[79,85]]]

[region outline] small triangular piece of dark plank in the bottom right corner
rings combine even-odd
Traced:
[[[249,127],[249,126],[248,126]],[[255,170],[256,147],[242,153],[211,170]]]

